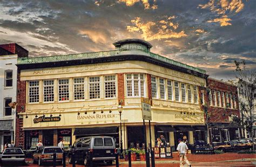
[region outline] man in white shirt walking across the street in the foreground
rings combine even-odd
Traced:
[[[190,162],[187,160],[187,151],[188,151],[188,148],[187,148],[187,145],[182,142],[181,138],[178,139],[178,147],[177,147],[177,151],[178,151],[178,156],[179,156],[179,162],[180,162],[180,166],[182,167],[183,166],[183,161],[186,162],[186,164],[188,166],[190,166]]]

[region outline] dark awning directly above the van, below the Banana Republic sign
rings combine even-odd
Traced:
[[[113,135],[118,134],[118,127],[98,127],[98,128],[76,128],[74,135]]]

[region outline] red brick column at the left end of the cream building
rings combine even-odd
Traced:
[[[21,146],[25,149],[25,133],[23,131],[23,118],[19,117],[18,113],[25,112],[26,103],[26,81],[21,81],[21,71],[18,70],[17,75],[17,114],[16,114],[16,146]],[[25,119],[25,117],[24,117]]]

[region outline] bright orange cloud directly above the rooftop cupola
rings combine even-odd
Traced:
[[[167,24],[167,22],[164,20],[160,20],[159,22]],[[185,31],[174,32],[170,28],[167,28],[167,25],[159,25],[152,21],[144,23],[140,17],[134,18],[131,20],[131,23],[133,23],[134,26],[126,26],[126,29],[129,32],[142,32],[141,36],[147,41],[154,39],[160,40],[169,38],[181,38],[187,36]]]

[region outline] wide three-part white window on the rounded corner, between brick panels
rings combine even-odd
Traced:
[[[128,97],[145,96],[144,74],[126,74],[126,86]]]

